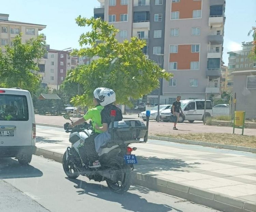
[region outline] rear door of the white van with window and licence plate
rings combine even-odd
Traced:
[[[0,146],[32,144],[32,108],[28,91],[0,93]]]

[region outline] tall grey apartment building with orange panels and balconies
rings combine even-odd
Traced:
[[[145,39],[143,52],[174,74],[161,84],[160,103],[221,93],[225,0],[98,0],[95,18],[119,29],[120,42]],[[152,103],[158,91],[147,97]]]

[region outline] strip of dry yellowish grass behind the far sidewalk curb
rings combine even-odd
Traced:
[[[229,134],[229,133],[189,133],[189,134],[168,134],[168,135],[160,135],[156,136],[162,137],[170,137],[170,138],[179,138],[186,140],[194,140],[194,141],[205,141],[212,143],[220,143],[220,144],[229,144],[235,146],[246,146],[256,148],[256,136],[241,136],[237,134]]]

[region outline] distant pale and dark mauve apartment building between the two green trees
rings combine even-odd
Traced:
[[[42,85],[49,87],[50,90],[59,89],[59,85],[65,80],[68,71],[77,66],[77,57],[70,56],[69,51],[49,48],[47,57],[43,58],[38,66]]]

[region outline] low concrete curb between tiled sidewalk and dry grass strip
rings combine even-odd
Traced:
[[[168,138],[168,137],[160,137],[160,136],[148,136],[148,139],[170,141],[170,142],[183,143],[183,144],[193,144],[193,145],[200,145],[200,146],[209,146],[209,147],[216,147],[216,148],[256,153],[256,148],[246,147],[246,146],[234,146],[234,145],[211,143],[211,142],[205,142],[205,141],[191,141],[191,140],[185,140],[185,139]]]

